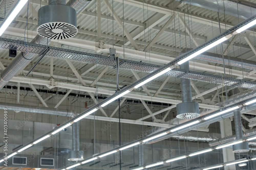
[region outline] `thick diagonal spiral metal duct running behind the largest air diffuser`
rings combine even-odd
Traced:
[[[88,0],[70,0],[67,5],[73,7],[76,12],[80,12],[83,8],[85,8],[91,1]],[[65,5],[65,0],[50,0],[49,4],[61,4]],[[31,41],[31,43],[47,45],[50,42],[50,39],[41,37],[36,35],[36,37]],[[9,64],[8,67],[4,69],[4,71],[0,74],[0,90],[22,69],[27,66],[27,64],[36,56],[34,53],[26,53],[22,52],[17,55],[14,60]]]

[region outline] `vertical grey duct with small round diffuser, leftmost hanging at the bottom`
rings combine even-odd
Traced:
[[[79,150],[79,124],[75,122],[72,124],[72,151],[68,152],[69,161],[82,161],[83,151]]]

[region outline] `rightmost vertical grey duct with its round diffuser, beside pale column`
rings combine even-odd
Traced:
[[[243,137],[243,130],[242,130],[242,120],[241,120],[241,112],[239,109],[234,111],[234,123],[235,123],[235,130],[236,130],[236,137],[240,139]],[[249,145],[248,142],[238,143],[233,146],[234,153],[243,153],[249,152]]]

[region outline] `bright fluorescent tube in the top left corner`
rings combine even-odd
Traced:
[[[4,21],[4,23],[1,25],[0,28],[0,36],[4,33],[6,28],[10,25],[10,23],[14,20],[14,18],[17,16],[19,11],[23,8],[23,6],[27,3],[28,0],[20,0],[18,4],[15,6],[15,8],[11,11],[11,13],[7,16],[7,19]]]

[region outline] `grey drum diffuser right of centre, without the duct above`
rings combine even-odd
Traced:
[[[195,102],[184,102],[179,103],[177,108],[177,118],[179,119],[194,119],[199,117],[199,106]]]

